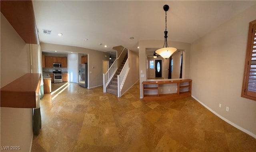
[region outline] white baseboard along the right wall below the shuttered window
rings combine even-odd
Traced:
[[[218,116],[219,118],[221,118],[222,120],[226,121],[227,123],[231,124],[232,126],[238,128],[239,130],[241,130],[242,132],[245,132],[246,134],[249,134],[250,136],[252,136],[253,138],[256,138],[256,134],[246,130],[245,128],[242,128],[241,126],[238,126],[237,124],[235,124],[234,122],[231,122],[230,120],[224,118],[223,116],[221,116],[220,114],[216,113],[215,111],[213,111],[212,109],[210,109],[209,107],[207,107],[206,105],[204,105],[204,103],[202,103],[201,101],[199,101],[198,99],[196,99],[196,97],[194,97],[192,95],[192,97],[198,101],[198,103],[200,103],[201,105],[203,105],[204,107],[206,107],[209,111],[211,111],[212,113],[214,113],[216,116]]]

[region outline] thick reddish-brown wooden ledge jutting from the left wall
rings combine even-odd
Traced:
[[[1,107],[36,108],[41,74],[27,73],[1,88]]]

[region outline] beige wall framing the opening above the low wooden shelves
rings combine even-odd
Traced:
[[[143,97],[142,91],[142,82],[147,80],[148,70],[146,69],[146,48],[161,48],[164,44],[164,41],[159,40],[141,40],[139,41],[139,61],[140,61],[140,98]],[[184,68],[182,69],[182,79],[189,79],[189,71],[190,71],[190,43],[176,42],[176,41],[168,41],[170,47],[175,47],[177,49],[182,49],[186,53],[184,55]],[[144,77],[142,77],[144,75]]]

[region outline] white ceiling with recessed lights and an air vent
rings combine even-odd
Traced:
[[[164,40],[165,4],[168,41],[192,43],[256,1],[33,1],[40,42],[104,52],[118,45],[138,51],[139,40]]]

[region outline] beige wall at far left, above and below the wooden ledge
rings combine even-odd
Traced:
[[[30,49],[1,13],[1,87],[30,73]],[[33,137],[32,109],[1,107],[1,146],[30,151]],[[6,150],[7,152],[7,150]]]

